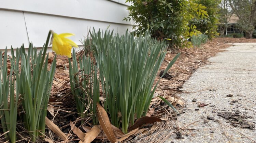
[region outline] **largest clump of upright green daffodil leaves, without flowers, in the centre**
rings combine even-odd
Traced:
[[[109,111],[111,122],[116,127],[120,124],[118,114],[122,114],[122,129],[127,133],[128,126],[134,123],[134,115],[140,118],[147,113],[157,84],[151,92],[152,85],[165,58],[167,45],[151,39],[148,33],[136,38],[128,32],[114,37],[112,34],[113,31],[90,32],[104,87],[104,108]]]

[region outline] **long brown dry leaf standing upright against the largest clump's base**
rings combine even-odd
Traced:
[[[109,139],[110,142],[112,143],[116,142],[114,132],[109,121],[108,114],[99,103],[97,103],[97,115],[99,118],[100,127],[105,133],[106,137]]]

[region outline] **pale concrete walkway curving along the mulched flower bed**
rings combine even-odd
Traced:
[[[247,137],[256,141],[256,131],[252,130],[256,123],[256,43],[230,46],[210,58],[211,64],[197,69],[181,89],[193,93],[179,95],[187,100],[185,113],[178,117],[179,127],[199,121],[186,127],[198,130],[185,130],[188,136],[182,131],[181,139],[175,135],[167,142],[253,142]],[[194,98],[196,102],[192,102]],[[198,107],[201,103],[209,105]],[[207,119],[207,116],[214,117],[214,120]]]

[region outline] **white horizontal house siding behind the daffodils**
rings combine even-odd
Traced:
[[[0,49],[36,47],[45,43],[48,31],[74,33],[71,39],[81,45],[80,39],[93,27],[114,32],[125,32],[132,22],[125,0],[2,0],[0,4]]]

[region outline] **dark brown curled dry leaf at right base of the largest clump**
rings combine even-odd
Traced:
[[[144,116],[139,118],[128,130],[134,130],[140,126],[142,126],[143,124],[150,124],[150,123],[155,123],[155,122],[161,122],[161,119],[156,117],[156,116]]]

